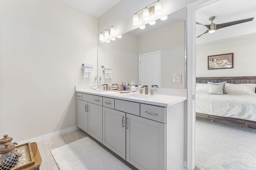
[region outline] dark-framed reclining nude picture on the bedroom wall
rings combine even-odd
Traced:
[[[208,56],[208,70],[234,68],[233,53]]]

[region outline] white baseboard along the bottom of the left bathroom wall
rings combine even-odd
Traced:
[[[21,141],[21,142],[18,142],[18,144],[20,145],[20,144],[28,143],[28,142],[30,142],[30,143],[40,142],[40,141],[43,141],[43,140],[46,140],[46,139],[49,139],[49,138],[52,138],[52,137],[56,137],[56,136],[65,134],[65,133],[76,131],[78,129],[80,129],[80,128],[77,127],[77,126],[74,126],[74,127],[70,127],[70,128],[67,128],[67,129],[63,129],[63,130],[60,130],[60,131],[53,132],[53,133],[48,133],[46,135],[42,135],[42,136],[39,136],[39,137],[35,137],[35,138],[32,138],[32,139],[28,139],[28,140],[25,140],[25,141]]]

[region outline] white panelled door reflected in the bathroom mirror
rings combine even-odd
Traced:
[[[160,87],[160,51],[139,55],[139,82]]]

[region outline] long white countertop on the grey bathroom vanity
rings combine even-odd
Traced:
[[[139,102],[143,104],[164,106],[164,107],[172,106],[174,104],[187,100],[186,97],[181,97],[181,96],[167,96],[167,95],[159,95],[159,94],[145,95],[145,94],[131,93],[131,92],[115,93],[112,91],[110,92],[110,91],[99,90],[99,89],[96,89],[96,90],[93,90],[93,89],[78,90],[77,89],[76,92],[114,98],[114,99],[120,99],[120,100],[126,100],[130,102]]]

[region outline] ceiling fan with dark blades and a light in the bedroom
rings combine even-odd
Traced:
[[[212,17],[209,18],[210,21],[213,21],[214,19],[215,19],[215,16],[212,16]],[[199,22],[196,22],[196,24],[204,25],[205,27],[208,28],[204,33],[201,34],[201,35],[203,35],[205,33],[213,33],[214,31],[216,31],[217,29],[220,29],[220,28],[229,27],[231,25],[236,25],[238,23],[244,23],[244,22],[252,21],[253,19],[254,19],[254,17],[253,18],[247,18],[247,19],[244,19],[244,20],[220,23],[220,24],[211,23],[210,25],[204,25],[204,24],[199,23]],[[199,35],[198,37],[200,37],[201,35]],[[196,38],[198,38],[198,37],[196,37]]]

